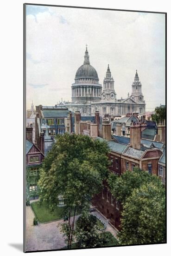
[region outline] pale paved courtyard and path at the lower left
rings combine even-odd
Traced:
[[[116,237],[117,231],[108,223],[107,219],[97,211],[91,214],[98,216],[106,224],[105,231],[110,231]],[[34,217],[31,206],[26,206],[26,251],[62,249],[66,246],[59,227],[63,220],[46,224],[38,223],[38,225],[34,226]],[[76,219],[78,217],[76,216]],[[71,217],[71,221],[72,219]]]

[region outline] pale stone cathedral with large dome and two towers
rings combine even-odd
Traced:
[[[59,106],[66,106],[70,111],[80,111],[82,115],[95,115],[99,111],[102,117],[126,115],[130,112],[145,114],[146,103],[142,93],[142,84],[136,70],[132,84],[132,94],[126,99],[116,99],[114,78],[108,65],[106,76],[103,80],[103,89],[99,83],[98,74],[90,65],[89,53],[86,47],[84,62],[76,71],[75,82],[71,86],[72,101],[61,101]]]

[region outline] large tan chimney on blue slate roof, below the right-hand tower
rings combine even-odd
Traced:
[[[130,126],[130,142],[133,148],[141,147],[141,125],[139,123],[131,123]]]

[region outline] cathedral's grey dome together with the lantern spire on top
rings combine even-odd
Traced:
[[[89,53],[87,50],[87,46],[86,46],[86,51],[85,51],[85,55],[84,55],[84,63],[76,71],[75,79],[77,79],[77,78],[94,78],[94,79],[99,80],[97,71],[89,63]]]

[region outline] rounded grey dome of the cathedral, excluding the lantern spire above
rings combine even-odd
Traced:
[[[83,64],[81,67],[78,68],[78,70],[76,71],[75,79],[81,78],[81,77],[99,79],[97,75],[97,71],[90,64]]]

